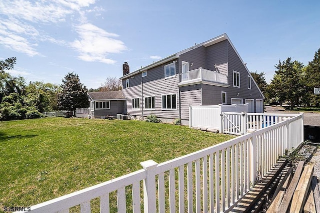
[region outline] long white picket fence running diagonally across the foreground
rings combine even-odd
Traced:
[[[30,213],[65,213],[76,205],[88,213],[94,198],[101,213],[228,212],[279,155],[301,142],[303,114],[164,163],[142,162],[142,170],[32,206]]]

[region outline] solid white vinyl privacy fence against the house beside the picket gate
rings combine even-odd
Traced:
[[[222,112],[247,112],[248,104],[189,106],[189,127],[218,129]]]

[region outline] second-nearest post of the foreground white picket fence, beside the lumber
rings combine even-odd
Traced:
[[[256,134],[255,130],[252,130],[250,143],[249,143],[249,162],[248,162],[248,169],[249,169],[249,180],[252,186],[256,181]]]

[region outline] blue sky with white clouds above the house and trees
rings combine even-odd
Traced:
[[[274,64],[307,64],[320,48],[320,1],[0,0],[0,60],[12,75],[87,88],[227,33],[250,71],[272,79]]]

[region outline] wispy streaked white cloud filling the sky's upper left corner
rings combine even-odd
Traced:
[[[0,0],[0,45],[29,56],[41,55],[36,46],[40,41],[65,45],[35,27],[65,21],[95,0]],[[34,25],[34,26],[33,26]],[[38,28],[40,29],[40,28]]]

